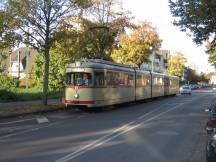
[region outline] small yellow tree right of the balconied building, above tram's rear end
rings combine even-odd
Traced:
[[[169,75],[182,77],[187,59],[180,52],[170,55],[168,58],[167,71]]]

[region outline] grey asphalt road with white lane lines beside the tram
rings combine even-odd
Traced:
[[[100,112],[0,120],[0,161],[205,162],[204,109],[215,98],[199,90]]]

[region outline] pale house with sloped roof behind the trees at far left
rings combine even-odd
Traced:
[[[8,75],[19,79],[25,78],[27,74],[31,76],[37,51],[23,47],[12,52],[6,60],[6,72]]]

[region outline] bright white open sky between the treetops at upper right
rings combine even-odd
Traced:
[[[199,72],[213,72],[214,68],[208,63],[205,45],[197,46],[192,38],[181,32],[179,27],[172,24],[173,17],[169,11],[168,0],[121,0],[124,10],[130,10],[134,21],[147,20],[156,27],[163,40],[161,49],[183,53],[188,60],[187,66]]]

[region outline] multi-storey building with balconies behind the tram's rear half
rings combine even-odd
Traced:
[[[155,51],[149,56],[149,61],[144,62],[141,68],[148,71],[164,73],[167,69],[167,60],[170,52],[168,50]]]

